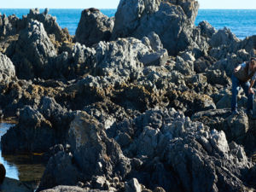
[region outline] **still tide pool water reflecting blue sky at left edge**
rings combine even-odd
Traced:
[[[0,123],[0,137],[14,124]],[[18,179],[32,186],[38,186],[44,173],[44,160],[37,155],[3,155],[0,150],[0,161],[6,169],[6,176]]]

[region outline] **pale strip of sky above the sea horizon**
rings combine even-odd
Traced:
[[[127,0],[129,1],[129,0]],[[255,0],[198,0],[200,9],[256,9]],[[1,0],[4,8],[116,9],[119,0]]]

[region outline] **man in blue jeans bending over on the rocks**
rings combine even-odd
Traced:
[[[253,84],[256,79],[256,57],[252,57],[250,61],[243,62],[234,69],[232,75],[232,99],[231,111],[238,114],[237,111],[237,94],[238,87],[241,86],[247,96],[247,115],[253,116]],[[251,80],[251,83],[249,81]]]

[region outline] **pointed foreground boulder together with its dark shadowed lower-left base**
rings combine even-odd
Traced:
[[[107,137],[102,125],[88,113],[77,113],[68,131],[68,143],[71,154],[62,151],[49,160],[38,189],[75,185],[79,179],[86,182],[94,176],[125,177],[131,171],[130,160],[119,145]]]

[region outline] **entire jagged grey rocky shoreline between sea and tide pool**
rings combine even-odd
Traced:
[[[195,26],[198,9],[120,0],[113,18],[84,9],[75,36],[48,9],[0,15],[0,114],[18,119],[3,154],[44,153],[44,192],[256,190],[242,92],[230,113],[256,38]]]

